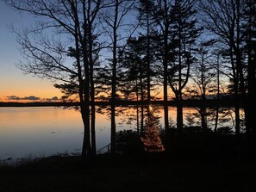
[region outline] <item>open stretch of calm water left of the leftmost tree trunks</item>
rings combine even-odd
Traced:
[[[1,108],[0,157],[41,157],[80,148],[79,114],[60,108]],[[68,142],[66,142],[68,140]]]

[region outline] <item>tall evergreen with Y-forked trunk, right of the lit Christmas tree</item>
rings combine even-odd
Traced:
[[[171,34],[172,53],[175,55],[169,64],[168,81],[177,102],[177,128],[183,128],[183,93],[190,77],[190,65],[195,61],[192,50],[196,46],[197,37],[202,28],[197,28],[197,11],[193,9],[193,1],[175,1],[172,6]]]

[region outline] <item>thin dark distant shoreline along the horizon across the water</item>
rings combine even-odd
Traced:
[[[164,101],[150,101],[152,105],[164,105]],[[209,99],[206,102],[202,102],[201,100],[183,100],[183,107],[202,107],[205,106],[207,108],[213,107],[234,107],[234,99],[233,98],[224,98],[221,100]],[[241,103],[241,102],[240,102]],[[111,102],[95,102],[96,106],[109,106]],[[148,105],[147,101],[126,101],[126,100],[117,100],[116,106],[119,107],[128,107],[128,106],[136,106],[136,105]],[[90,102],[91,105],[91,102]],[[176,101],[168,101],[168,106],[175,107],[177,106]],[[0,102],[1,107],[76,107],[79,106],[79,102]]]

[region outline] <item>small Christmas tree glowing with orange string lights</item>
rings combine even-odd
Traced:
[[[141,137],[146,152],[164,152],[165,147],[159,136],[159,121],[153,115],[153,109],[149,106],[149,112],[146,120],[145,134]]]

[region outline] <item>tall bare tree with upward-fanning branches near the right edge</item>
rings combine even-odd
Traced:
[[[228,1],[200,1],[199,7],[203,13],[202,18],[206,28],[217,36],[222,49],[226,50],[223,54],[228,56],[230,64],[231,81],[235,97],[235,134],[237,140],[240,139],[240,93],[245,102],[246,86],[244,78],[244,65],[242,62],[242,39],[240,34],[242,12],[244,3],[240,0]],[[247,119],[247,110],[246,119]]]

